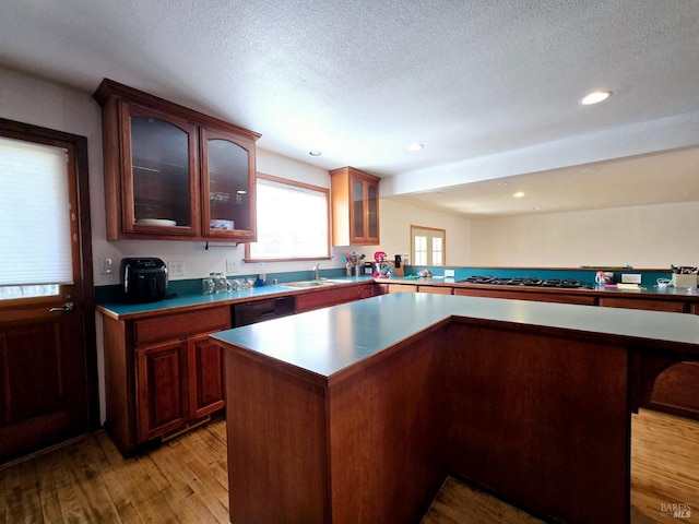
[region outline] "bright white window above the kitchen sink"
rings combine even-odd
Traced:
[[[258,174],[258,241],[246,260],[279,261],[330,257],[330,190]]]

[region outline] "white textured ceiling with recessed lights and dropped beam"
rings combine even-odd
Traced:
[[[699,200],[686,150],[699,145],[695,0],[0,0],[0,63],[87,93],[109,78],[452,213]],[[614,95],[578,104],[597,88]],[[408,153],[414,141],[425,148]],[[683,169],[667,169],[678,159],[657,153],[677,148]],[[605,164],[620,157],[633,162]],[[503,188],[516,180],[497,186],[592,186],[570,169],[592,164],[625,179],[614,186],[662,176],[677,191],[534,205],[512,202]]]

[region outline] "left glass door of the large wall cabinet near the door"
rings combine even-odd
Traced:
[[[197,235],[197,126],[134,104],[125,110],[125,229]]]

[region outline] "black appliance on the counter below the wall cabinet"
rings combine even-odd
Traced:
[[[156,302],[167,295],[167,266],[161,259],[121,259],[121,294],[128,302]]]

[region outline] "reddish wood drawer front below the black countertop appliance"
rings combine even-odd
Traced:
[[[133,322],[135,344],[178,338],[180,336],[225,330],[230,326],[227,307],[201,309],[186,313],[163,314]]]

